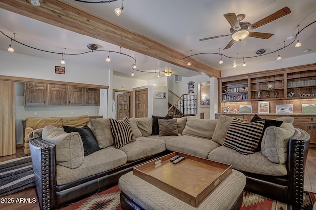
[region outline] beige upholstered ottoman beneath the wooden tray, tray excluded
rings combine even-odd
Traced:
[[[146,210],[239,209],[245,185],[246,176],[233,170],[197,207],[192,207],[133,175],[133,172],[123,175],[118,181],[122,209]]]

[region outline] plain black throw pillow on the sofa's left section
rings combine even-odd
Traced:
[[[64,128],[64,131],[67,133],[78,132],[80,134],[80,137],[83,143],[84,156],[87,156],[89,154],[92,154],[93,152],[100,150],[98,141],[95,139],[92,131],[87,125],[81,128],[70,127],[70,126],[63,126],[63,128]]]

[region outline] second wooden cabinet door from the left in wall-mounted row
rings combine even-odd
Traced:
[[[67,105],[67,85],[48,85],[48,105]]]

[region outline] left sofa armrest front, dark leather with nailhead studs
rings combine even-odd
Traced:
[[[56,148],[41,138],[30,140],[36,190],[43,210],[56,205]]]

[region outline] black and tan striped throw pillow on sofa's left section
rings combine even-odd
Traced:
[[[117,149],[135,141],[135,134],[127,117],[124,117],[122,120],[110,118],[110,125],[114,137],[115,147]]]

